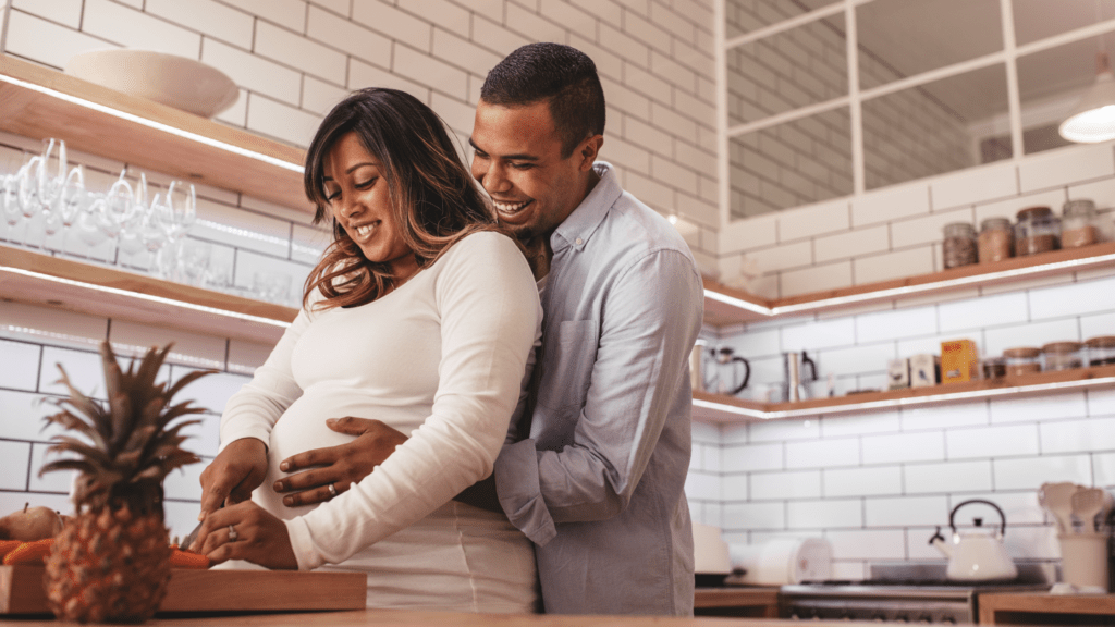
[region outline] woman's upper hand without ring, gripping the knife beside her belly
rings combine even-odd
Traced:
[[[268,447],[254,437],[236,440],[224,447],[202,471],[202,511],[205,520],[224,505],[252,498],[252,490],[268,476]]]

